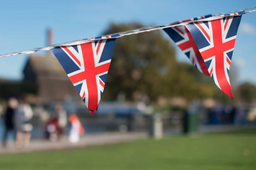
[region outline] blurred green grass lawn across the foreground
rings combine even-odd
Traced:
[[[0,170],[256,170],[256,129],[1,155]]]

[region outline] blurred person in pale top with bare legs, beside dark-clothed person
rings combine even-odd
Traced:
[[[20,100],[20,104],[15,111],[15,128],[16,134],[16,147],[28,147],[31,139],[31,131],[33,126],[31,119],[33,117],[33,111],[23,98]]]

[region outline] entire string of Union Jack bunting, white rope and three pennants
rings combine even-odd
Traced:
[[[50,45],[0,55],[7,57],[51,50],[79,92],[90,113],[97,109],[111,62],[115,39],[127,35],[164,30],[197,69],[233,99],[229,70],[241,16],[256,7],[181,20],[166,25],[139,28],[111,35]],[[247,11],[246,11],[247,10]]]

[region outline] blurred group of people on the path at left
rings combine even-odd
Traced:
[[[6,110],[0,105],[0,113],[3,119],[2,146],[7,146],[8,138],[15,140],[16,148],[27,148],[31,140],[33,130],[33,110],[25,98],[8,100]],[[43,114],[42,114],[43,115]],[[67,112],[61,105],[54,107],[54,112],[47,118],[44,125],[45,137],[51,141],[57,141],[64,136],[67,125],[69,125],[69,141],[77,143],[79,136],[84,133],[84,128],[76,114]]]

